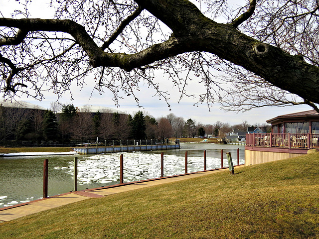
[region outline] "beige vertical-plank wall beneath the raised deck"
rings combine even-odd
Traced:
[[[293,158],[300,155],[300,153],[278,153],[278,152],[263,152],[252,151],[245,149],[245,166],[259,163],[266,163],[280,159]]]

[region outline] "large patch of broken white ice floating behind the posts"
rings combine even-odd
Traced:
[[[120,155],[122,153],[96,154],[78,160],[78,183],[110,183],[120,180]],[[124,182],[160,177],[160,154],[127,152],[124,158]],[[68,167],[55,167],[73,175],[73,162]],[[210,164],[210,165],[208,165]],[[207,167],[220,167],[220,159],[207,158]],[[184,173],[183,156],[165,155],[164,176]],[[188,172],[203,170],[203,157],[188,157]]]

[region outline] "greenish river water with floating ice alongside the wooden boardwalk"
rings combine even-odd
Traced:
[[[185,151],[188,151],[188,172],[202,171],[206,150],[206,168],[228,166],[225,152],[231,152],[237,164],[244,163],[244,147],[210,143],[181,143],[180,149],[126,152],[124,154],[124,182],[160,177],[160,153],[164,153],[164,176],[184,173]],[[121,153],[76,155],[78,157],[78,190],[118,184]],[[0,208],[28,202],[43,196],[43,161],[48,158],[48,196],[73,190],[74,155],[22,156],[0,158]]]

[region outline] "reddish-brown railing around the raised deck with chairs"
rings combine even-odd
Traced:
[[[319,148],[317,133],[249,133],[247,146],[280,148]]]

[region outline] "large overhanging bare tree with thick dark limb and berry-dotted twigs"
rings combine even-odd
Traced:
[[[91,73],[95,88],[109,89],[116,104],[120,90],[139,104],[135,92],[141,80],[167,102],[169,95],[155,78],[164,74],[180,98],[195,97],[185,86],[198,79],[204,90],[196,101],[208,106],[217,99],[231,110],[287,102],[318,110],[318,0],[247,0],[238,9],[226,0],[193,0],[201,9],[191,0],[49,1],[54,19],[31,18],[30,2],[19,1],[21,9],[0,18],[6,97],[22,92],[41,99],[44,90],[59,97],[73,81],[83,86]],[[224,89],[227,77],[217,78],[213,69],[231,74],[228,78],[235,74],[234,88]],[[252,77],[245,77],[244,69]],[[260,94],[265,87],[269,90]],[[278,88],[301,101],[286,95],[285,100]],[[238,89],[251,91],[248,103],[232,99]]]

